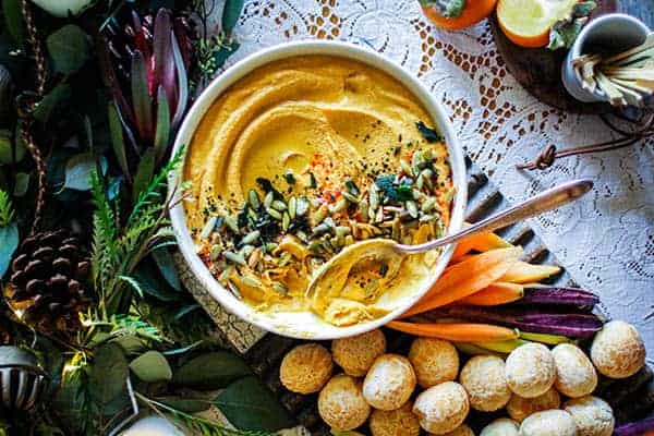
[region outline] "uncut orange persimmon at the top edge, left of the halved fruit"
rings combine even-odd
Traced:
[[[450,16],[443,14],[444,9],[448,3],[462,3],[463,8],[460,13],[455,11]],[[436,26],[448,31],[458,31],[470,27],[480,21],[484,20],[495,10],[497,0],[421,0],[421,5],[424,14]]]

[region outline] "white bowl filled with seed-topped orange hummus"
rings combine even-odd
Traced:
[[[300,41],[235,63],[191,108],[180,149],[171,192],[190,187],[171,220],[184,262],[228,312],[279,335],[334,339],[398,317],[453,246],[358,259],[319,299],[307,286],[356,242],[422,243],[463,222],[465,165],[449,119],[366,47]]]

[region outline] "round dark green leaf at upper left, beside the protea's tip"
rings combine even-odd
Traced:
[[[62,74],[80,70],[90,56],[88,35],[74,24],[65,25],[48,36],[46,45],[55,70]]]

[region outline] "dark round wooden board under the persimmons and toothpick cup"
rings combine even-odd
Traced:
[[[616,0],[602,0],[592,19],[617,10]],[[568,50],[524,48],[507,38],[499,28],[495,15],[491,19],[497,52],[509,72],[530,94],[546,105],[574,113],[608,113],[609,104],[585,104],[568,94],[561,81],[561,65]]]

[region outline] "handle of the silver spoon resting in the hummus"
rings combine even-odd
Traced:
[[[449,234],[447,237],[417,245],[401,244],[398,245],[398,249],[405,253],[421,253],[437,249],[443,245],[451,244],[452,242],[457,242],[460,239],[474,233],[501,229],[502,227],[512,225],[516,221],[521,221],[548,210],[556,209],[559,206],[581,197],[592,187],[593,182],[589,179],[572,180],[570,182],[561,183],[558,186],[543,191],[542,193],[534,195],[533,197],[519,203],[513,207],[509,207],[508,209],[493,215],[482,221],[475,222],[474,225],[467,227],[455,234]]]

